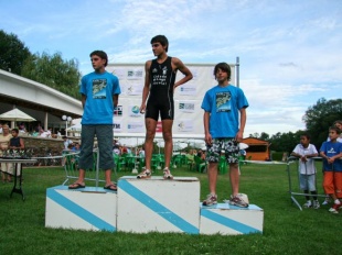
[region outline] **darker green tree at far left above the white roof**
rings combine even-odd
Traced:
[[[31,56],[29,48],[14,34],[0,30],[0,68],[21,75],[24,60]]]

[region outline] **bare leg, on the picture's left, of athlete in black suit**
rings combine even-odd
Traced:
[[[145,137],[145,166],[151,169],[151,159],[153,153],[153,140],[156,135],[157,121],[150,118],[145,120],[146,137]]]

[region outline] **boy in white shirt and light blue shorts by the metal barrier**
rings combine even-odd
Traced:
[[[318,152],[314,145],[310,144],[310,135],[302,134],[300,136],[300,144],[298,144],[291,156],[299,157],[299,182],[300,189],[306,193],[307,202],[303,208],[320,208],[320,202],[317,199],[317,188],[316,188],[316,166],[312,157],[318,156]],[[313,202],[311,202],[309,191],[312,195]]]

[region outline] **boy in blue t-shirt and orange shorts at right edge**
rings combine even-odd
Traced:
[[[324,142],[320,148],[323,157],[323,188],[324,192],[333,200],[333,206],[329,209],[332,213],[339,213],[342,207],[342,143],[338,142],[341,131],[338,126],[329,129],[329,142]]]

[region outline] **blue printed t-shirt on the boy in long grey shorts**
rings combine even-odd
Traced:
[[[82,124],[113,124],[113,95],[121,92],[115,75],[93,71],[82,78],[79,92],[87,97]]]

